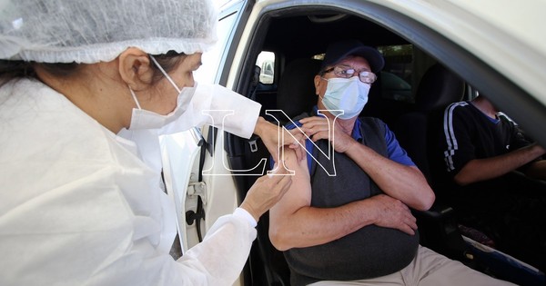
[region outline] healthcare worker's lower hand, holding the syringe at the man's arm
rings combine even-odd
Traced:
[[[277,203],[292,183],[292,176],[284,168],[274,168],[276,173],[258,178],[247,192],[240,207],[249,212],[256,222]]]

